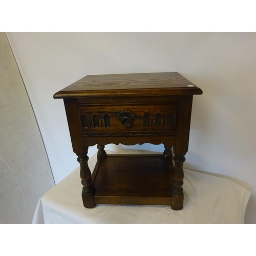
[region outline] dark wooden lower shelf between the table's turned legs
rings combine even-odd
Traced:
[[[171,171],[163,155],[108,155],[92,175],[94,203],[170,205]]]

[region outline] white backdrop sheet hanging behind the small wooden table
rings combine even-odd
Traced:
[[[89,74],[177,71],[197,84],[184,167],[253,187],[256,223],[255,33],[7,33],[56,182],[77,166],[62,100],[53,94]],[[116,149],[109,145],[108,149]],[[163,151],[163,146],[142,145]],[[89,155],[96,152],[90,148]]]

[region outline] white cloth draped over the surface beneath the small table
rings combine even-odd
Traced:
[[[96,155],[89,160],[91,170],[95,163]],[[244,223],[250,191],[226,177],[184,169],[184,206],[178,211],[154,205],[87,209],[82,204],[79,169],[39,199],[33,223]]]

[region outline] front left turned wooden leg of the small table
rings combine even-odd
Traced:
[[[88,147],[86,147],[86,153],[77,154],[78,156],[77,161],[80,163],[80,177],[83,185],[83,188],[82,188],[83,206],[86,208],[93,208],[95,206],[93,201],[94,188],[92,185],[91,170],[88,166],[89,157],[87,156],[87,153],[88,153]]]

